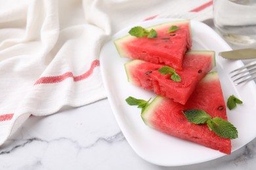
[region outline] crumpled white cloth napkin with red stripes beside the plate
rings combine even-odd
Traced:
[[[106,97],[100,48],[146,18],[211,18],[209,0],[0,1],[0,145],[30,115]],[[61,120],[60,120],[61,121]]]

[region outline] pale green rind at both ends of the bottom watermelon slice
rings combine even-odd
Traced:
[[[212,71],[207,73],[203,79],[200,81],[200,83],[205,83],[205,82],[211,82],[219,79],[219,75],[217,71]],[[155,110],[158,109],[161,101],[163,101],[165,97],[162,97],[160,95],[156,96],[153,101],[144,109],[144,111],[141,113],[141,118],[146,124],[146,126],[154,128],[154,126],[150,123],[150,117],[152,117],[152,114],[154,114]]]

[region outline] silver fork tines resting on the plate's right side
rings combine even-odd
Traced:
[[[256,78],[256,60],[251,61],[250,63],[245,64],[244,66],[234,69],[230,72],[231,78],[235,84],[238,86],[244,82],[248,82],[249,80],[253,80]]]

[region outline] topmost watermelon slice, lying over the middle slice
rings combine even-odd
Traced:
[[[179,29],[168,33],[171,25],[177,25]],[[182,69],[184,54],[192,46],[190,21],[168,22],[148,27],[148,30],[150,29],[157,31],[157,38],[137,38],[127,35],[114,41],[119,56],[162,63],[174,69]]]

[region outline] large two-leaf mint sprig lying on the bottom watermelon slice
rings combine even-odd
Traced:
[[[211,131],[224,139],[236,139],[238,137],[236,127],[234,127],[230,122],[219,117],[212,118],[204,110],[186,110],[183,114],[188,119],[188,122],[193,124],[207,124]]]

